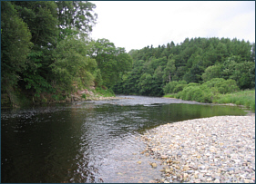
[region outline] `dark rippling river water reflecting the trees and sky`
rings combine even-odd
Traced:
[[[148,182],[155,161],[138,135],[161,124],[238,107],[129,96],[1,111],[1,182]],[[138,160],[141,164],[138,164]]]

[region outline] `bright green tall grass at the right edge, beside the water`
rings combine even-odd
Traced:
[[[218,98],[213,99],[213,102],[243,105],[255,111],[255,90],[221,94]]]

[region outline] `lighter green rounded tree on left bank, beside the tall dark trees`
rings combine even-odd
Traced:
[[[67,37],[56,45],[55,62],[50,65],[55,74],[54,83],[66,92],[93,85],[93,72],[97,67],[94,59],[87,56],[87,43],[76,37]]]

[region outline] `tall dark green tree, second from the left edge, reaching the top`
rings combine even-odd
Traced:
[[[21,73],[22,88],[30,89],[39,96],[40,92],[52,92],[49,65],[56,47],[57,19],[56,3],[49,1],[16,1],[18,15],[29,27],[33,47],[27,55],[26,70]]]

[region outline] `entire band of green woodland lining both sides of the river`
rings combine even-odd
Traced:
[[[127,53],[106,38],[90,38],[95,8],[85,1],[2,1],[1,99],[50,102],[90,88],[182,96],[196,88],[227,93],[255,87],[254,43],[186,38]]]

